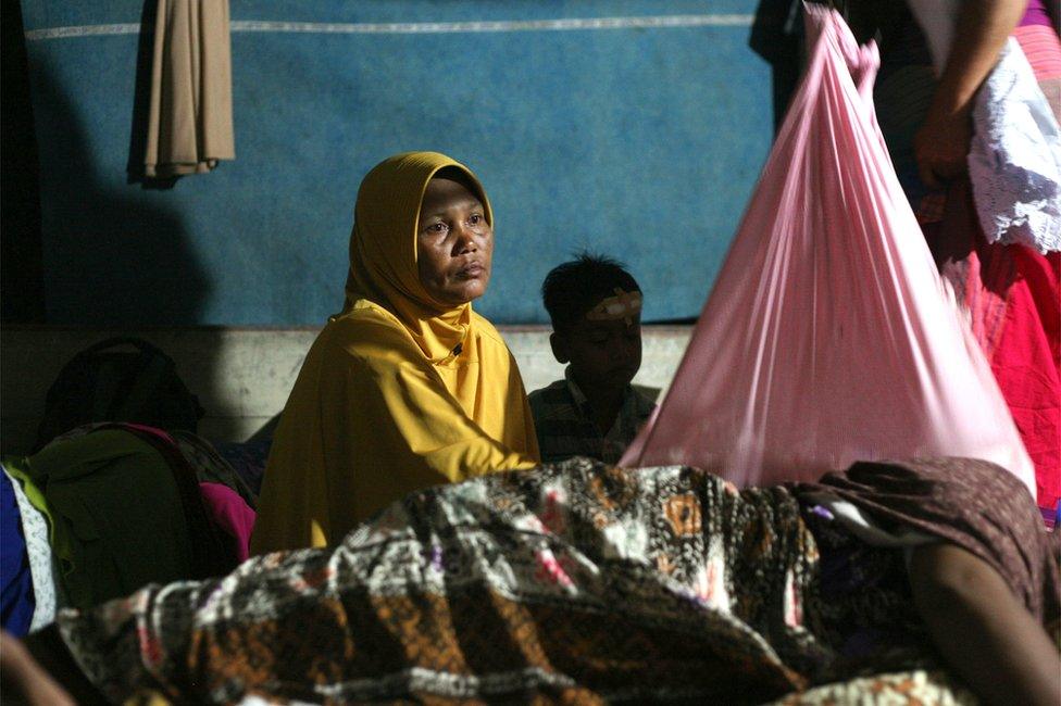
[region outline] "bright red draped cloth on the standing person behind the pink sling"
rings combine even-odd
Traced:
[[[989,244],[968,182],[951,187],[925,236],[943,275],[969,310],[1002,396],[1035,464],[1037,501],[1061,500],[1061,253]]]

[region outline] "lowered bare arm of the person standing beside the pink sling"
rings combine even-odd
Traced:
[[[954,40],[925,122],[913,140],[924,185],[938,189],[965,172],[973,98],[1024,13],[1026,0],[964,0]]]

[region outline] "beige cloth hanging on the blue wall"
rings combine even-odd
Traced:
[[[228,0],[159,0],[145,174],[200,174],[235,157]]]

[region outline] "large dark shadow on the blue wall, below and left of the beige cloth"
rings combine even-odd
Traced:
[[[180,214],[123,193],[89,153],[77,112],[42,62],[33,75],[41,144],[49,324],[197,325],[211,293]],[[161,194],[159,194],[161,196]]]

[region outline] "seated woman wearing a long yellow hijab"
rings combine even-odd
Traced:
[[[492,251],[490,203],[464,165],[410,152],[365,176],[346,305],[280,417],[253,553],[335,544],[409,492],[537,462],[515,360],[472,311]]]

